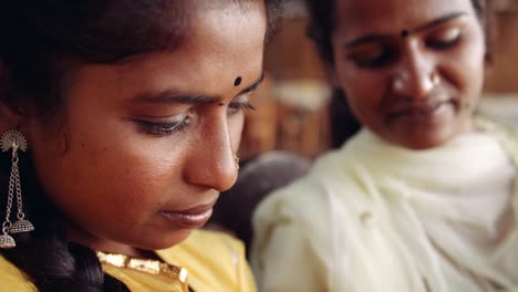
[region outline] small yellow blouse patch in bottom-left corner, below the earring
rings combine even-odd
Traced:
[[[0,255],[0,283],[2,291],[37,291],[28,277],[2,255]]]

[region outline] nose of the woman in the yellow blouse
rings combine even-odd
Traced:
[[[206,129],[188,154],[184,178],[190,185],[225,191],[234,186],[238,175],[229,127],[220,122]]]

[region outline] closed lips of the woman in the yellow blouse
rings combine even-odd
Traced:
[[[177,227],[196,229],[203,227],[213,215],[214,204],[195,207],[183,211],[162,211],[167,220]]]

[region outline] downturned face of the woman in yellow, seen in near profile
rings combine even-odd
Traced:
[[[265,3],[201,0],[191,17],[175,50],[80,66],[61,108],[64,127],[0,107],[10,116],[0,131],[23,125],[72,240],[148,258],[208,220],[236,181],[242,111],[262,80]]]

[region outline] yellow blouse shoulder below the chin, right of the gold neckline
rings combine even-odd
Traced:
[[[255,291],[245,246],[232,236],[195,230],[184,242],[157,254],[187,269],[195,291]]]

